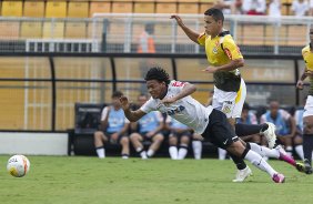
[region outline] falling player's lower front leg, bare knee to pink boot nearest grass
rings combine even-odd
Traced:
[[[271,175],[275,183],[284,182],[285,178],[283,174],[280,174],[273,170],[273,167],[266,161],[264,161],[260,154],[244,147],[241,142],[234,141],[228,146],[226,150],[235,156],[241,156],[242,159],[250,161],[255,167],[265,171]]]

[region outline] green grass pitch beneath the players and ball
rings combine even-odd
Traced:
[[[232,183],[231,161],[29,156],[31,171],[21,178],[6,171],[0,156],[0,204],[286,204],[313,202],[313,175],[270,163],[286,176],[275,184],[264,172]],[[252,165],[250,165],[252,166]]]

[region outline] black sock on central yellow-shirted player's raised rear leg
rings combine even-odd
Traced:
[[[235,134],[238,136],[248,136],[251,134],[259,134],[269,128],[266,123],[264,124],[235,124]]]

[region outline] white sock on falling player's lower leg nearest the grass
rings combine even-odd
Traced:
[[[273,170],[273,167],[262,159],[262,156],[260,154],[258,154],[256,152],[253,151],[249,151],[244,157],[245,160],[248,160],[249,162],[251,162],[255,167],[267,172],[271,177],[273,177],[274,174],[276,174],[277,172],[275,170]]]

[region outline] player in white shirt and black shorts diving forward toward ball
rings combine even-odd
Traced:
[[[245,159],[258,169],[267,172],[275,183],[284,182],[283,174],[277,173],[260,154],[245,147],[239,141],[224,113],[213,110],[211,105],[203,106],[190,95],[196,90],[193,84],[170,81],[169,74],[161,68],[150,69],[145,81],[151,99],[139,110],[131,111],[128,98],[120,98],[125,116],[131,122],[138,121],[151,111],[166,113],[192,128],[195,133],[209,139],[216,146],[225,149],[229,153]]]

